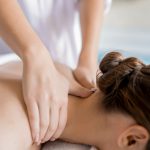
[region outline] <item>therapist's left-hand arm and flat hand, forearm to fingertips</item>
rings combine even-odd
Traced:
[[[47,48],[32,29],[17,0],[0,0],[0,34],[23,62],[22,91],[32,139],[41,143],[45,140],[45,135],[49,139],[54,133],[55,138],[59,137],[67,121],[69,84],[56,71]],[[48,70],[49,67],[51,71]],[[54,80],[58,82],[54,83]],[[39,88],[36,88],[39,84]],[[48,105],[49,99],[51,104]],[[52,112],[51,117],[49,109]],[[49,124],[50,120],[53,120],[53,124]],[[52,128],[55,130],[52,131]]]

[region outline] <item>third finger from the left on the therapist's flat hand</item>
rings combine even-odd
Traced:
[[[42,143],[51,139],[51,137],[57,130],[58,121],[59,121],[59,107],[57,105],[52,105],[50,108],[49,127],[48,127],[47,133],[46,133]]]

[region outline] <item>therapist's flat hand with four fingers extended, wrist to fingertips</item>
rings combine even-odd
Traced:
[[[33,142],[40,144],[58,138],[65,128],[69,83],[48,52],[38,53],[23,60],[23,94]]]

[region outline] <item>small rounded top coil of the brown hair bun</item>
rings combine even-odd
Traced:
[[[104,74],[110,71],[111,69],[115,68],[116,66],[118,66],[123,60],[124,57],[121,55],[121,53],[110,52],[102,59],[99,69]]]

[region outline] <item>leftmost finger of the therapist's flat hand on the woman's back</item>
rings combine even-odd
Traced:
[[[39,110],[38,105],[34,102],[27,103],[27,111],[33,142],[39,140]]]

